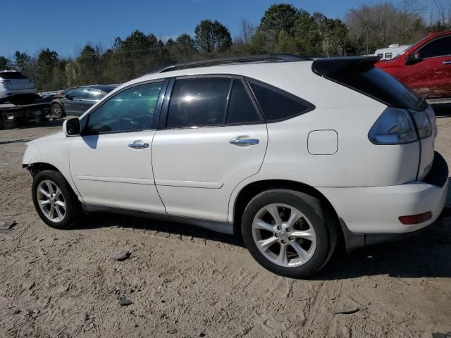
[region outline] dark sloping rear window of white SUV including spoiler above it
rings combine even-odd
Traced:
[[[318,75],[357,90],[387,106],[426,109],[426,102],[388,73],[374,67],[378,58],[324,58],[314,61]],[[427,105],[427,104],[426,104]]]

